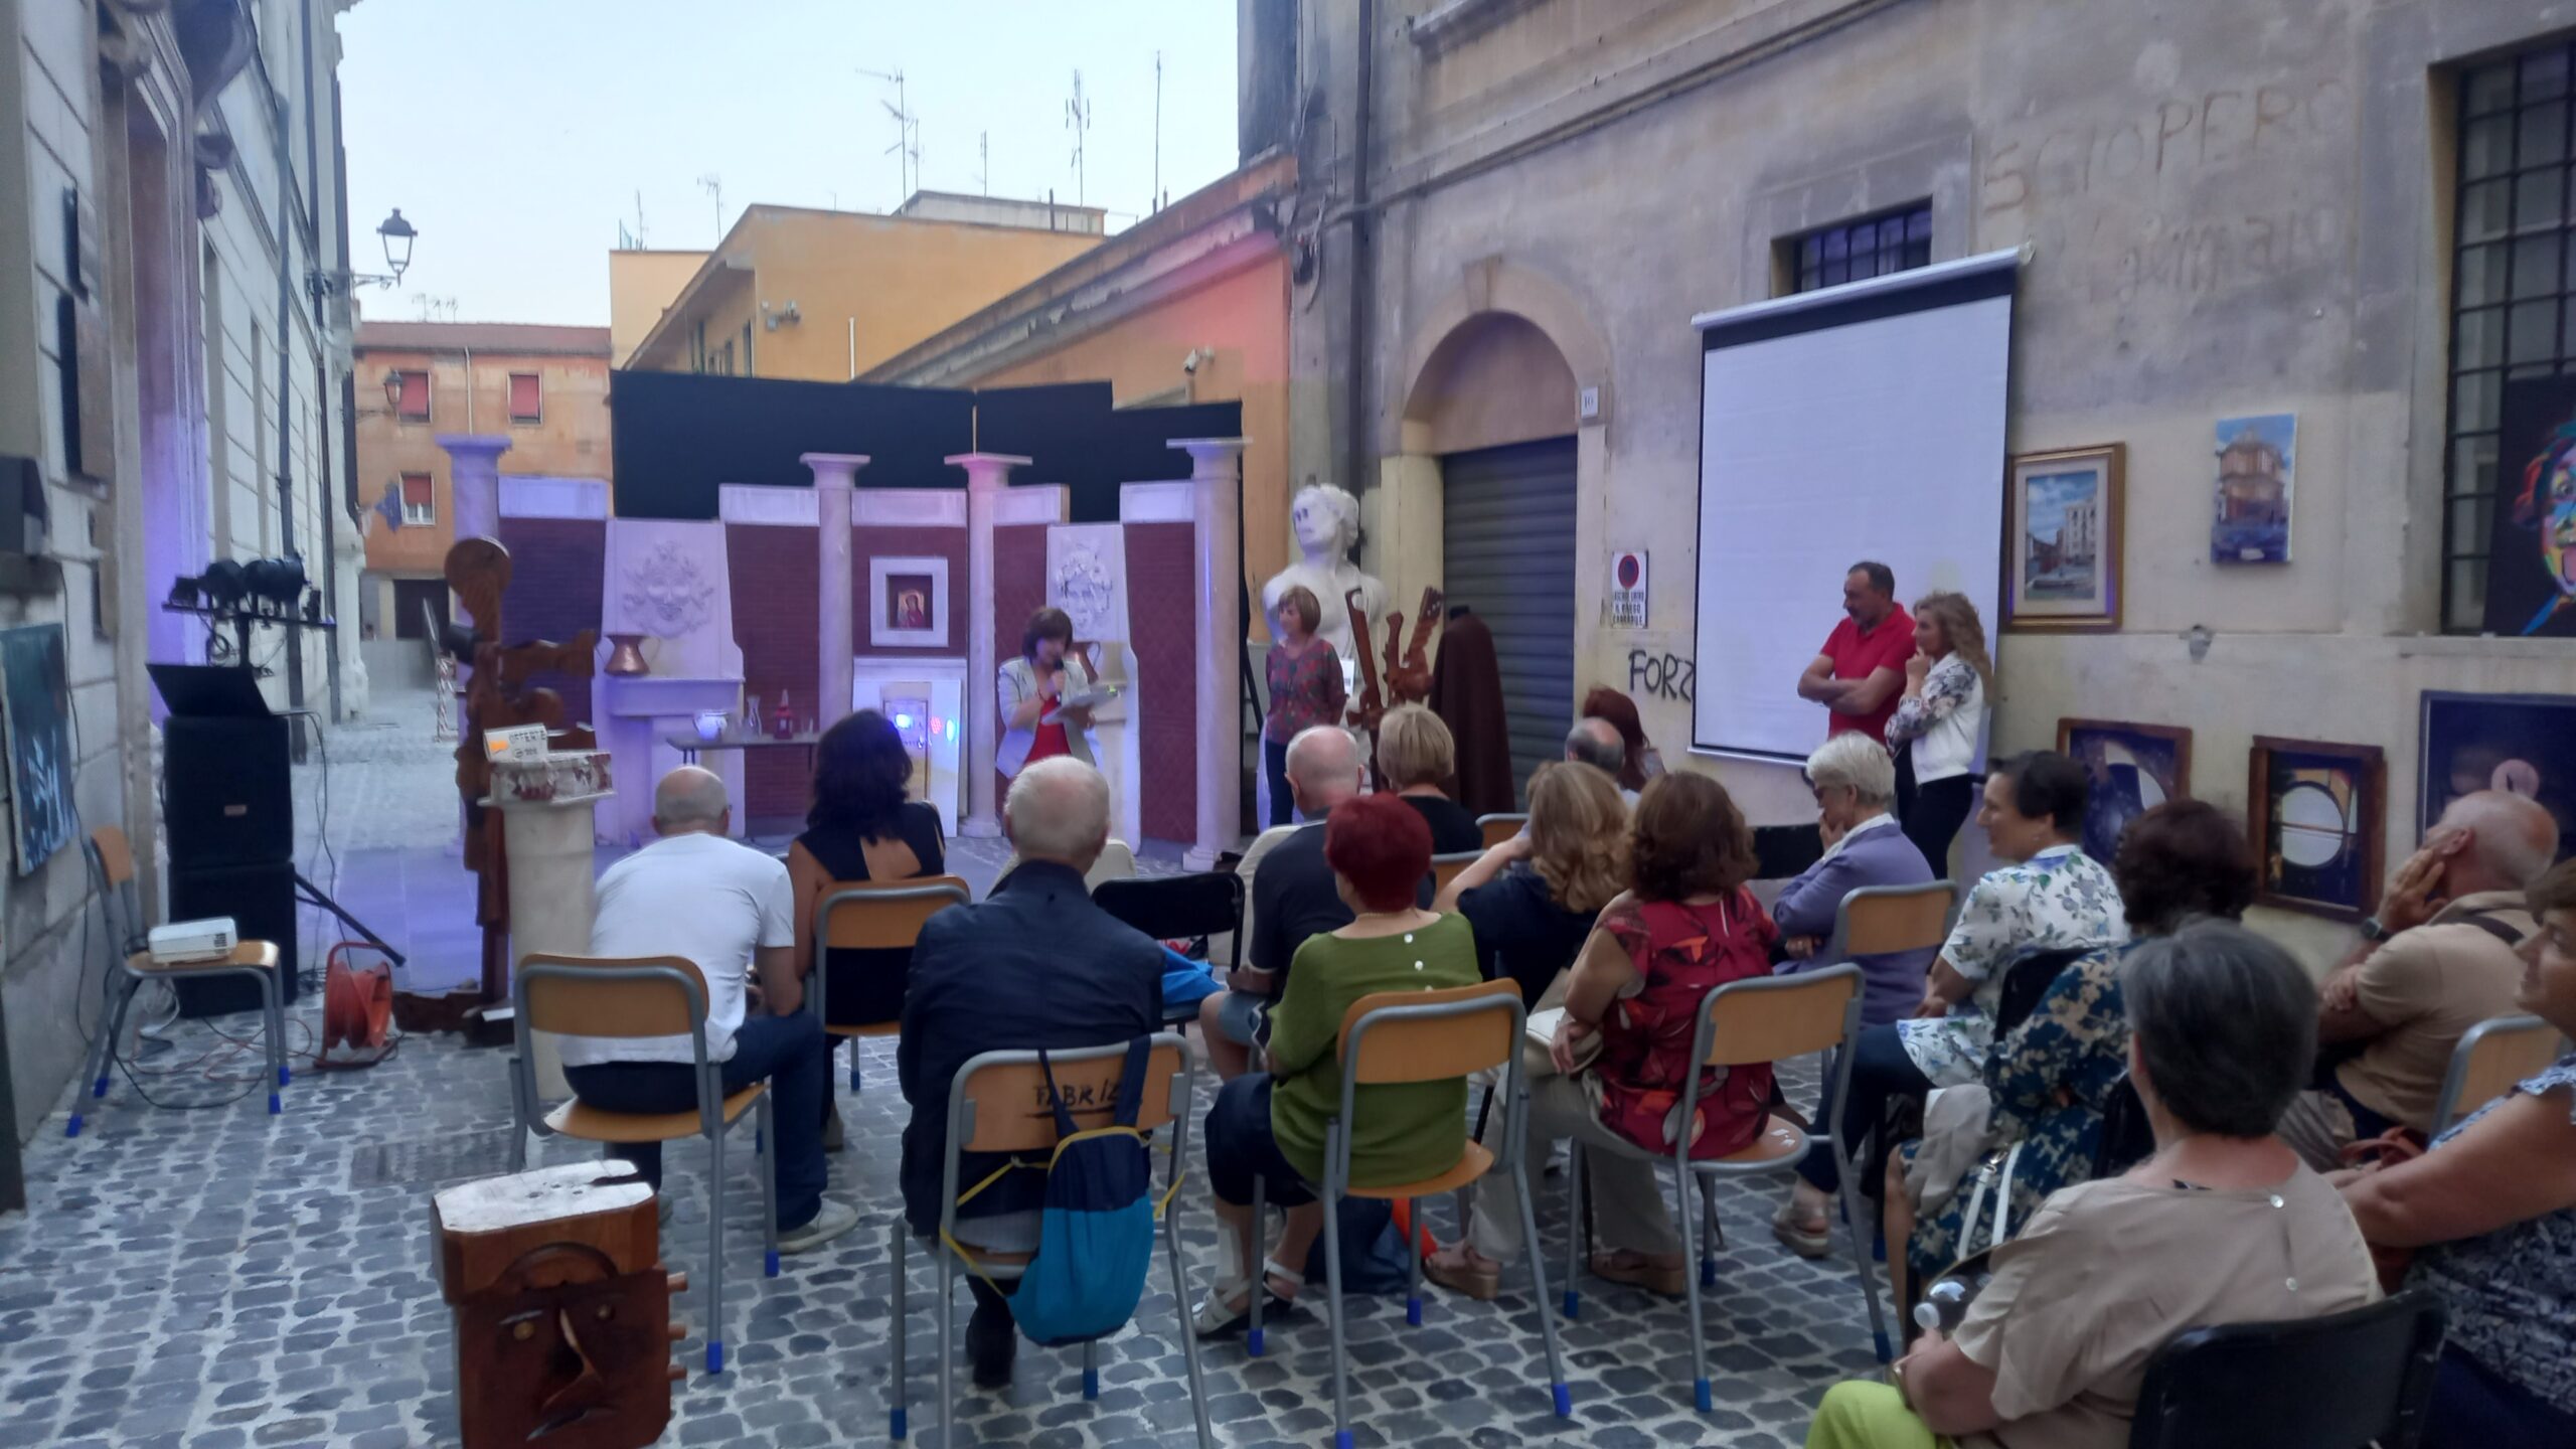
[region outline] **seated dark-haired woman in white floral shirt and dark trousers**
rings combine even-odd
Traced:
[[[2014,755],[1986,776],[1986,804],[1976,820],[1986,828],[1986,846],[2009,864],[1968,890],[1914,1016],[1860,1034],[1847,1111],[1837,1124],[1844,1147],[1886,1116],[1888,1098],[1976,1080],[1994,1044],[2004,967],[2017,957],[2128,941],[2120,887],[2076,846],[2084,797],[2084,766],[2045,750]],[[1862,1183],[1878,1181],[1883,1152],[1886,1145],[1865,1163]],[[1801,1217],[1832,1201],[1832,1152],[1808,1152],[1798,1176],[1816,1189],[1798,1194]]]

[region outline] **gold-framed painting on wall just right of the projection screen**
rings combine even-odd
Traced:
[[[2012,459],[2004,498],[2004,627],[2120,627],[2125,443]]]

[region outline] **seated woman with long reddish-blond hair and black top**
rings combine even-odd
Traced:
[[[1512,977],[1538,1011],[1625,879],[1628,802],[1610,776],[1551,761],[1530,776],[1530,828],[1458,871],[1432,910],[1466,915],[1486,980]]]

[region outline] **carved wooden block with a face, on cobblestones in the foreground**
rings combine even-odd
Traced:
[[[670,1299],[688,1279],[662,1271],[654,1194],[605,1171],[564,1163],[433,1199],[466,1449],[639,1449],[670,1426]]]

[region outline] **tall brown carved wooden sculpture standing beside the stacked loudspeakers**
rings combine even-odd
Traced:
[[[492,761],[484,755],[484,730],[544,724],[556,750],[595,750],[587,724],[564,724],[564,696],[531,688],[541,673],[590,678],[598,632],[582,629],[569,645],[538,639],[502,645],[500,601],[510,590],[510,549],[492,539],[459,539],[448,549],[448,588],[474,616],[474,676],[466,681],[466,724],[456,740],[456,792],[466,804],[466,869],[477,877],[474,920],[482,926],[482,1000],[510,998],[510,864],[502,853],[500,812],[484,810],[492,794]]]

